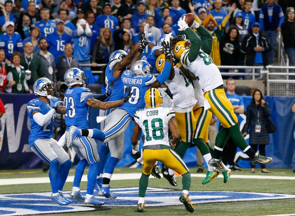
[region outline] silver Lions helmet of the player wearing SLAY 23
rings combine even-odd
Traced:
[[[83,85],[84,87],[88,84],[86,74],[83,70],[77,67],[72,67],[65,72],[64,76],[65,84],[68,87],[73,85]]]

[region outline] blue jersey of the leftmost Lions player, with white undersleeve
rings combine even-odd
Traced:
[[[27,105],[27,112],[29,115],[29,119],[31,122],[31,132],[29,135],[29,145],[30,147],[34,144],[37,139],[50,139],[53,133],[53,122],[54,116],[52,117],[51,121],[45,124],[44,126],[38,125],[35,120],[33,119],[33,111],[38,111],[41,114],[45,115],[48,113],[52,107],[54,106],[55,102],[58,99],[53,97],[49,99],[49,104],[41,101],[39,98],[35,98],[31,100]]]

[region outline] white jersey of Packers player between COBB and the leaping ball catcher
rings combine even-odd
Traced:
[[[174,71],[174,78],[165,81],[165,84],[173,94],[172,108],[178,113],[190,112],[197,102],[194,86],[191,84],[191,80],[178,67],[174,67]]]

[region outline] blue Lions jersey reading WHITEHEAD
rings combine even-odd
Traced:
[[[126,103],[120,106],[120,109],[126,110],[134,117],[137,110],[144,109],[144,94],[157,79],[152,74],[134,77],[131,70],[125,70],[122,74],[122,81],[124,89],[127,86],[131,88],[132,95]]]

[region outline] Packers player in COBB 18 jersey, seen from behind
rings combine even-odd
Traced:
[[[132,146],[137,145],[137,139],[144,133],[145,141],[142,148],[141,158],[138,159],[142,165],[142,174],[139,180],[139,199],[136,211],[144,212],[144,196],[148,187],[148,177],[156,161],[162,162],[165,166],[175,170],[182,175],[183,191],[179,197],[187,211],[194,212],[191,200],[188,198],[188,191],[191,186],[191,174],[187,166],[170,146],[174,146],[179,140],[179,131],[175,124],[175,112],[172,108],[161,107],[162,95],[159,90],[150,88],[144,95],[146,107],[137,110],[134,114],[134,129],[131,138]],[[168,140],[168,130],[173,134],[172,141]]]

